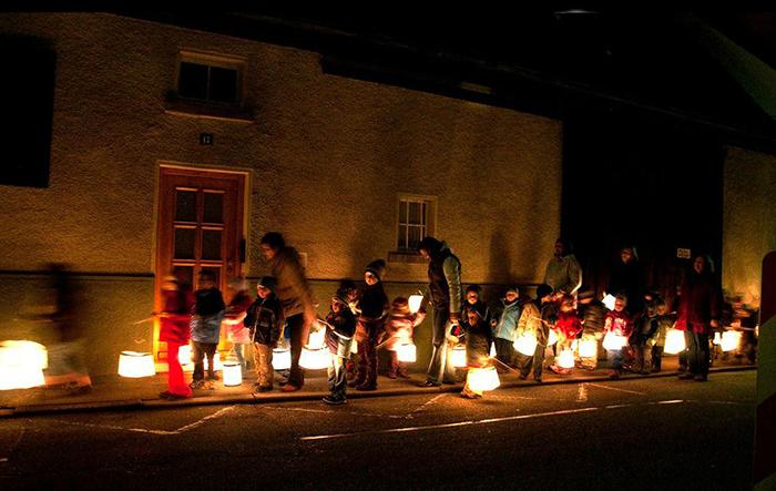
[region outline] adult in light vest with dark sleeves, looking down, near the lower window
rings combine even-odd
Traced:
[[[433,305],[431,362],[421,387],[456,383],[456,370],[448,354],[449,326],[456,326],[461,311],[461,262],[448,245],[433,237],[425,237],[418,252],[428,262],[428,280]]]

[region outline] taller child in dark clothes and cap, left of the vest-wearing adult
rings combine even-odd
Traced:
[[[356,390],[377,390],[377,338],[388,315],[388,296],[382,288],[386,262],[369,263],[364,272],[367,286],[358,303],[356,340],[358,341],[358,376],[350,382]]]

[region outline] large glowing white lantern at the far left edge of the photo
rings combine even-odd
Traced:
[[[0,390],[29,389],[45,385],[48,355],[33,341],[0,342]]]

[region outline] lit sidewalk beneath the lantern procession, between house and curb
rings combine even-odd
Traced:
[[[663,360],[663,370],[658,374],[634,375],[625,374],[619,380],[630,380],[643,377],[675,377],[677,367],[677,358],[670,357]],[[459,392],[463,383],[455,386],[445,385],[442,387],[417,387],[417,383],[425,380],[425,374],[421,372],[422,367],[413,367],[415,371],[410,374],[411,379],[391,380],[380,376],[378,378],[378,390],[375,391],[357,391],[348,388],[348,398],[371,398],[371,397],[389,397],[404,396],[415,393],[439,393],[441,392]],[[733,370],[752,370],[756,366],[742,364],[733,359],[728,362],[716,360],[711,368],[711,372],[716,371],[733,371]],[[549,370],[545,370],[542,378],[543,385],[554,383],[579,383],[585,381],[615,381],[607,376],[609,369],[605,362],[601,362],[596,370],[574,369],[571,375],[558,376]],[[319,401],[323,396],[328,393],[326,383],[326,370],[307,370],[305,386],[296,392],[282,392],[279,386],[275,385],[275,390],[272,392],[253,393],[253,371],[248,371],[247,377],[243,380],[243,385],[238,387],[224,387],[222,382],[214,382],[214,389],[195,390],[194,397],[191,399],[169,401],[161,399],[159,392],[166,390],[166,375],[156,375],[142,379],[130,379],[115,376],[102,376],[93,378],[93,390],[85,395],[70,395],[62,389],[45,389],[34,388],[25,390],[7,390],[0,391],[0,418],[14,416],[33,416],[51,412],[63,411],[90,411],[90,410],[108,410],[108,409],[159,409],[170,407],[188,407],[204,405],[224,405],[224,403],[266,403],[266,402],[288,402],[288,401]],[[186,374],[191,378],[190,374]],[[520,380],[515,372],[502,374],[501,387],[535,387],[537,383],[529,377],[528,380]],[[711,377],[713,380],[713,375]],[[497,389],[499,390],[499,389]]]

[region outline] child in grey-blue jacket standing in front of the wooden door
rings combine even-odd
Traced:
[[[192,317],[192,341],[194,358],[194,375],[188,387],[201,389],[205,387],[205,370],[203,360],[207,357],[207,378],[218,380],[214,370],[215,349],[218,346],[221,334],[221,319],[224,315],[224,297],[215,287],[215,275],[212,272],[200,273],[200,289],[194,294],[194,316]],[[212,385],[207,386],[210,389]]]

